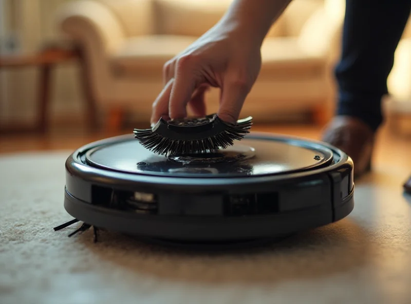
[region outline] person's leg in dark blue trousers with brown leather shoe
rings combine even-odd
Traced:
[[[374,135],[381,125],[381,99],[394,53],[411,10],[411,0],[346,0],[338,82],[337,117],[323,140],[344,150],[356,176],[371,164]]]

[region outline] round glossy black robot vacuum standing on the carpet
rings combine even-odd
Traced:
[[[341,220],[353,192],[351,158],[322,142],[250,132],[213,153],[166,156],[124,135],[68,157],[64,208],[86,228],[221,244]]]

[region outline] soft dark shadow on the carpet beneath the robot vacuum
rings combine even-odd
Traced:
[[[146,242],[119,233],[92,230],[73,241],[82,242],[97,258],[136,275],[201,283],[276,283],[345,273],[367,263],[369,237],[350,219],[306,233],[223,251],[192,250]]]

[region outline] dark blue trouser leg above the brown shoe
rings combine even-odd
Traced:
[[[411,0],[346,0],[341,60],[335,67],[337,115],[357,117],[377,130],[381,98]]]

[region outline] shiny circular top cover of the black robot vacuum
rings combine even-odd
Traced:
[[[124,137],[87,151],[85,162],[115,172],[163,177],[250,177],[303,172],[330,165],[333,153],[298,140],[246,137],[212,154],[162,156]]]

